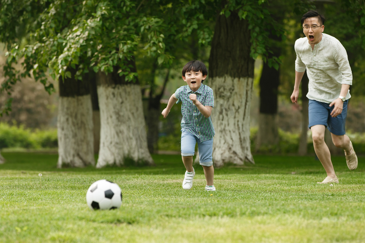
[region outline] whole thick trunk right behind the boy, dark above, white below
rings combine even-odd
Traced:
[[[250,104],[254,59],[250,57],[250,31],[236,12],[216,20],[209,58],[209,83],[215,97],[213,162],[254,163],[250,150]]]

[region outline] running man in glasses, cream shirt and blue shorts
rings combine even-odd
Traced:
[[[315,153],[327,172],[320,184],[338,183],[333,169],[330,150],[324,142],[326,128],[331,132],[334,145],[345,150],[350,170],[357,168],[357,156],[348,136],[345,135],[347,103],[351,97],[352,73],[347,53],[333,36],[323,34],[324,16],[308,11],[301,19],[306,37],[295,42],[295,85],[291,101],[297,103],[299,85],[307,68],[309,79],[308,114]]]

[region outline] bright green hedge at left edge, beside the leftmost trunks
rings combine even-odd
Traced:
[[[31,131],[0,122],[0,148],[57,148],[57,129]]]

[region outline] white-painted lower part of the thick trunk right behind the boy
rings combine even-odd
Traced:
[[[214,93],[212,121],[213,163],[219,167],[227,162],[243,165],[254,164],[250,149],[250,105],[253,89],[252,78],[214,77],[209,86]]]

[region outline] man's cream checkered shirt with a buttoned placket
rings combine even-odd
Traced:
[[[304,72],[307,68],[308,99],[331,103],[340,95],[342,84],[352,85],[346,50],[333,36],[322,33],[322,40],[313,51],[307,37],[297,39],[294,48],[295,70]],[[348,91],[346,99],[350,97]]]

